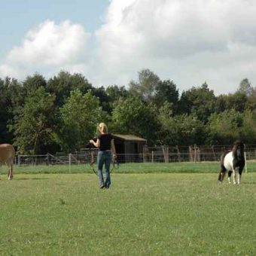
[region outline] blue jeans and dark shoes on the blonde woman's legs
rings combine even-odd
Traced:
[[[99,175],[99,185],[105,185],[109,187],[111,184],[110,178],[110,164],[111,164],[112,154],[111,151],[99,151],[97,157],[98,175]],[[103,165],[105,164],[105,182],[102,174]]]

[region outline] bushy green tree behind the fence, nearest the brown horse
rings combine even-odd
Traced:
[[[39,87],[26,98],[25,105],[15,120],[14,145],[25,154],[40,154],[41,147],[54,140],[50,119],[53,118],[53,102],[55,96]]]

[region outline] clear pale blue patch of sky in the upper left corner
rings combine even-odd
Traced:
[[[101,26],[108,0],[0,0],[0,58],[44,20],[72,20],[93,32]]]

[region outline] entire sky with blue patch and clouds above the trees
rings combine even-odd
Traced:
[[[128,86],[150,69],[179,92],[256,87],[254,0],[0,0],[0,78],[81,73]]]

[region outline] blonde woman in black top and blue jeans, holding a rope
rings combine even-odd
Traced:
[[[96,148],[99,148],[98,157],[97,157],[97,167],[99,175],[99,187],[108,188],[111,184],[110,178],[110,165],[112,159],[112,152],[114,157],[116,157],[116,151],[114,147],[114,138],[111,133],[108,133],[108,127],[105,123],[99,123],[98,126],[99,136],[97,141],[94,142],[93,139],[90,139],[90,143],[93,144]],[[105,164],[105,181],[102,174],[103,165]]]

